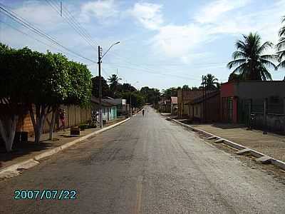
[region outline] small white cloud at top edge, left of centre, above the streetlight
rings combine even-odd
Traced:
[[[118,6],[114,0],[88,1],[81,6],[81,18],[83,21],[90,21],[90,18],[93,16],[98,21],[103,22],[106,19],[118,16],[118,14]]]

